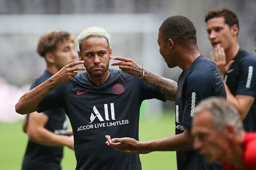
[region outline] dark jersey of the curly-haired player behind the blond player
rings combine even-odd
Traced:
[[[32,84],[31,89],[46,81],[51,76],[52,75],[48,71],[45,71],[44,74]],[[66,113],[62,108],[54,108],[52,110],[44,111],[44,113],[41,114],[45,114],[48,117],[45,125],[47,130],[56,134],[64,135],[67,133]],[[29,115],[27,116],[29,124]],[[48,147],[29,140],[22,169],[61,169],[60,162],[62,156],[63,147]]]

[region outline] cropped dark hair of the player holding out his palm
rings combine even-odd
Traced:
[[[182,45],[196,44],[196,28],[185,16],[176,15],[165,19],[159,28],[165,40],[172,38]]]

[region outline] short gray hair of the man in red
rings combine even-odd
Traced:
[[[210,112],[214,124],[219,132],[222,131],[226,125],[234,126],[238,133],[244,131],[238,110],[228,104],[224,98],[211,97],[203,100],[195,108],[195,116],[203,111]]]

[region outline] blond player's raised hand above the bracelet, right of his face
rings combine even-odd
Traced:
[[[123,72],[131,76],[142,77],[142,66],[138,65],[134,60],[124,57],[113,57],[113,59],[121,62],[114,62],[111,65],[118,65]]]

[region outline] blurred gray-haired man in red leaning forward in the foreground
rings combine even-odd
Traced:
[[[209,98],[195,109],[191,130],[194,149],[208,163],[223,169],[256,169],[256,133],[245,132],[236,108],[221,98]]]

